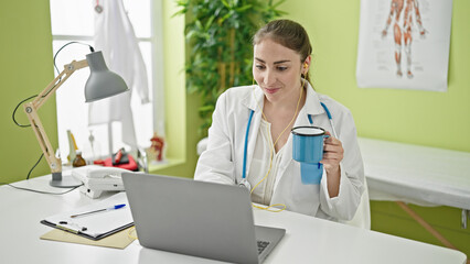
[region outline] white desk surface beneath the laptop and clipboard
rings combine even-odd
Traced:
[[[15,183],[34,189],[49,187],[50,176]],[[104,198],[104,197],[103,197]],[[125,250],[40,240],[51,229],[43,218],[95,202],[78,190],[40,195],[0,187],[1,263],[216,263],[210,260],[143,249],[135,241]],[[255,210],[257,224],[287,230],[266,263],[447,263],[462,264],[461,252],[316,219],[293,212]]]

